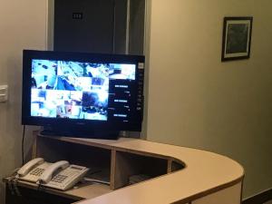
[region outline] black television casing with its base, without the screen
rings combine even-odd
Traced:
[[[31,78],[32,78],[32,59],[44,60],[63,60],[76,62],[95,62],[95,63],[135,63],[136,75],[135,84],[133,84],[134,108],[138,105],[140,114],[130,122],[121,121],[93,121],[93,120],[73,120],[61,118],[44,118],[31,116]],[[44,134],[73,136],[83,138],[116,139],[119,131],[141,131],[141,122],[143,114],[143,101],[139,109],[139,91],[141,89],[141,98],[143,87],[139,86],[139,63],[144,63],[142,55],[128,54],[104,54],[104,53],[72,53],[72,52],[54,52],[54,51],[23,51],[23,92],[22,92],[22,124],[44,126]],[[137,105],[136,105],[137,104]]]

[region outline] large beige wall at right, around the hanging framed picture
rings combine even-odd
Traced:
[[[271,7],[271,0],[151,1],[147,138],[238,160],[244,197],[272,186]],[[235,15],[254,16],[251,58],[221,63],[223,17]]]

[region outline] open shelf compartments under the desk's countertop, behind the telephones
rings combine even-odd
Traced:
[[[34,138],[33,158],[42,157],[49,162],[68,160],[90,168],[88,178],[110,183],[110,186],[97,187],[95,191],[102,194],[130,185],[129,179],[133,175],[146,175],[152,179],[184,168],[179,160],[118,148],[112,145],[115,141],[44,136],[37,131],[34,131]],[[100,188],[102,190],[98,190]],[[74,191],[81,194],[81,189]],[[84,194],[79,198],[89,199]]]

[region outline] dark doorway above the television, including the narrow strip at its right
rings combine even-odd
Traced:
[[[55,0],[53,30],[55,51],[142,54],[144,0]]]

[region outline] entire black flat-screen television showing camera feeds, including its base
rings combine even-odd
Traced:
[[[22,124],[116,139],[141,131],[144,56],[24,50]]]

